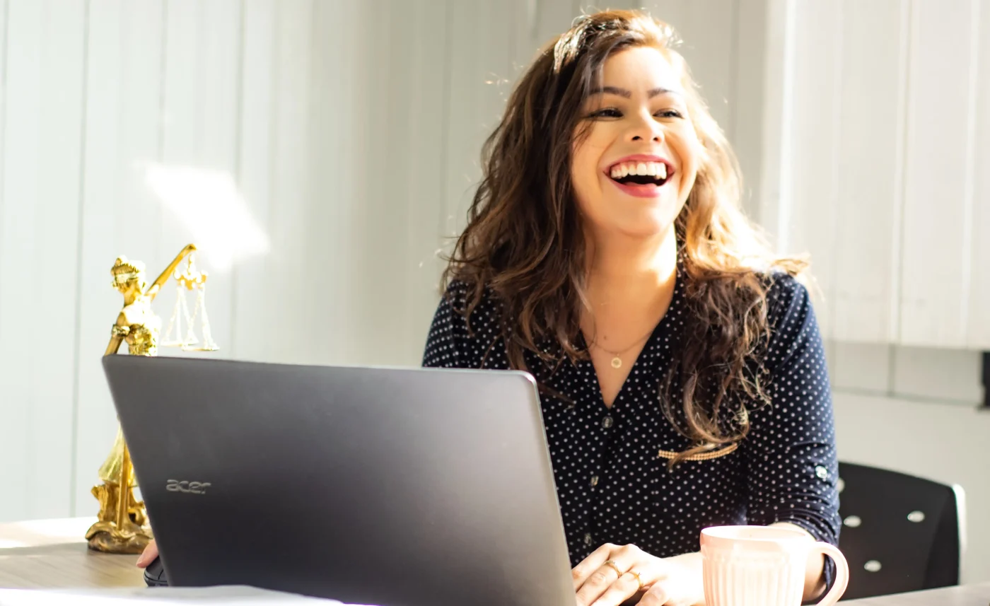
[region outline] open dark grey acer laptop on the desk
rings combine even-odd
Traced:
[[[573,606],[524,372],[109,355],[171,586]]]

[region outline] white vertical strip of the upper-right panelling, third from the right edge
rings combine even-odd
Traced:
[[[898,334],[908,15],[905,0],[859,3],[842,12],[835,38],[837,220],[832,249],[818,256],[833,259],[829,307],[841,341],[884,343]]]

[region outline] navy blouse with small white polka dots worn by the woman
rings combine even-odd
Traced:
[[[574,403],[541,398],[572,565],[605,543],[633,544],[660,557],[697,552],[701,530],[714,525],[791,522],[838,544],[838,462],[825,354],[808,291],[788,275],[776,276],[768,292],[773,333],[764,363],[772,404],[748,413],[750,430],[738,449],[668,470],[669,455],[690,446],[659,404],[659,380],[677,355],[689,313],[685,277],[679,270],[670,307],[611,408],[590,359],[565,362],[546,380]],[[474,310],[469,335],[454,311],[463,309],[466,296],[463,284],[448,287],[424,365],[509,368],[504,346],[496,343],[495,301]]]

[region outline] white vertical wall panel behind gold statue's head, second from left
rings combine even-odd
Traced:
[[[96,515],[89,489],[117,432],[100,364],[124,305],[110,268],[125,254],[146,261],[149,273],[160,271],[154,257],[161,205],[145,168],[158,160],[161,141],[163,2],[92,0],[88,28],[72,515]]]

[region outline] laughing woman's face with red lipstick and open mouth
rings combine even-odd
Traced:
[[[581,109],[571,181],[593,234],[665,233],[694,185],[701,145],[680,73],[651,47],[622,50],[603,66],[602,86]]]

